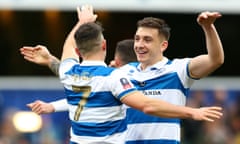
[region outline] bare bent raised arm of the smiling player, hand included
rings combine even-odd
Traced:
[[[189,72],[193,78],[202,78],[224,63],[224,51],[214,22],[222,15],[218,12],[202,12],[197,18],[198,24],[205,34],[207,54],[194,57],[189,64]]]

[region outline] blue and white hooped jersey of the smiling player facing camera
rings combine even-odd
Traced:
[[[130,63],[121,69],[134,86],[146,96],[176,105],[185,105],[194,80],[188,74],[189,58],[161,62],[142,71],[140,63]],[[159,118],[127,107],[126,144],[179,144],[180,119]]]

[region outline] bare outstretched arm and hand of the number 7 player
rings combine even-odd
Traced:
[[[159,117],[204,120],[211,122],[222,116],[221,107],[191,108],[177,106],[159,99],[149,98],[141,92],[134,92],[127,95],[122,99],[122,102],[146,114]]]

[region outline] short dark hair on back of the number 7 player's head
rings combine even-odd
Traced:
[[[74,39],[81,54],[95,52],[101,46],[103,28],[100,24],[90,22],[82,24],[74,34]]]

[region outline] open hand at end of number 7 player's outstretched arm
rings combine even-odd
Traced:
[[[213,122],[216,119],[220,119],[223,115],[221,107],[201,107],[195,110],[196,112],[193,114],[194,120]]]

